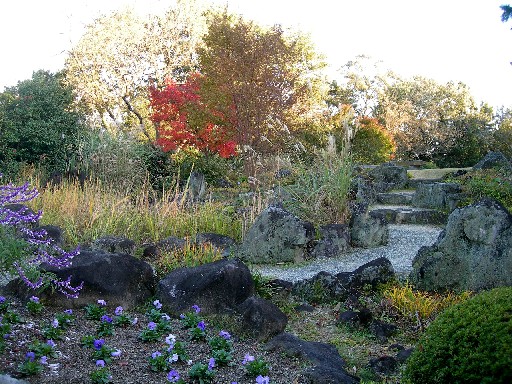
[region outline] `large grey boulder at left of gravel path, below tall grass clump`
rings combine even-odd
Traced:
[[[255,264],[300,262],[308,256],[314,227],[275,206],[265,209],[249,228],[238,256]]]

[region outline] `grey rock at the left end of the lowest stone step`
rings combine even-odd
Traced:
[[[372,248],[388,243],[387,222],[368,212],[367,203],[355,204],[350,218],[350,242],[354,247]]]

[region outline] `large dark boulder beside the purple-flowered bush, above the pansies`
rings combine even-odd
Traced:
[[[75,256],[72,265],[57,269],[45,266],[60,279],[71,276],[71,285],[84,282],[77,299],[66,300],[61,295],[51,295],[53,305],[80,307],[103,299],[111,306],[133,308],[143,304],[154,295],[156,277],[153,268],[146,262],[122,253],[101,250],[82,250]]]

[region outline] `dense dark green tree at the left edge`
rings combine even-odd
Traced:
[[[65,171],[74,160],[81,118],[73,112],[73,91],[63,74],[37,71],[0,94],[0,169],[16,173],[22,164]]]

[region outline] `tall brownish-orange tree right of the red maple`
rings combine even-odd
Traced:
[[[235,122],[236,142],[259,153],[282,146],[321,102],[324,64],[300,33],[211,12],[198,53],[203,99]]]

